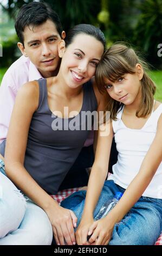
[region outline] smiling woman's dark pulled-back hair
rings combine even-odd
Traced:
[[[69,32],[66,34],[66,38],[64,39],[66,47],[70,45],[73,42],[75,36],[79,34],[94,36],[95,39],[101,42],[105,50],[106,42],[104,34],[100,30],[100,28],[89,24],[79,24],[71,28]]]

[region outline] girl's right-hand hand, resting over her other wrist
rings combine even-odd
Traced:
[[[91,245],[108,245],[112,237],[114,224],[108,217],[95,221],[89,227],[88,235],[91,235],[89,243]]]

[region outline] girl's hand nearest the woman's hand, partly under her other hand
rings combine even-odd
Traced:
[[[93,222],[93,218],[89,218],[88,220],[81,220],[75,233],[77,245],[89,245],[89,242],[87,241],[88,230]]]

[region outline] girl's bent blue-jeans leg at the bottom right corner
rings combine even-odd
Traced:
[[[162,229],[162,200],[154,202],[141,197],[115,225],[109,245],[154,245]]]

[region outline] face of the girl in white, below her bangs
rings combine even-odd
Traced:
[[[137,64],[139,65],[139,64]],[[105,78],[105,88],[114,100],[131,105],[135,100],[141,97],[141,82],[143,70],[137,66],[135,74],[125,74],[118,81],[111,82]]]

